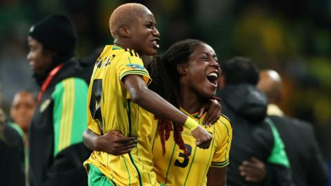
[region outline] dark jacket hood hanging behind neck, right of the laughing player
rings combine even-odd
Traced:
[[[230,110],[249,121],[262,121],[267,114],[268,99],[254,85],[226,85],[219,93]]]

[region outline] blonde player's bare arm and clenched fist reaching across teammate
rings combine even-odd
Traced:
[[[122,81],[134,103],[137,103],[137,105],[143,107],[143,109],[148,112],[166,120],[174,121],[182,125],[185,123],[188,116],[174,107],[174,105],[168,103],[168,101],[165,101],[165,99],[157,93],[149,90],[141,76],[130,74],[125,76]],[[199,126],[195,128],[191,131],[191,134],[196,139],[198,147],[207,149],[210,146],[212,136],[205,131],[203,127]]]

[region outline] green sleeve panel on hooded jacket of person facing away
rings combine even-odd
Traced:
[[[288,161],[288,156],[285,152],[285,146],[281,140],[281,137],[279,136],[277,128],[274,126],[274,123],[270,118],[265,118],[265,121],[267,121],[267,123],[270,125],[272,134],[274,136],[274,147],[272,147],[272,152],[268,158],[268,162],[284,165],[285,167],[290,168],[290,162]]]

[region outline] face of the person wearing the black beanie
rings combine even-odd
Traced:
[[[28,37],[29,53],[26,59],[29,61],[30,68],[33,72],[43,74],[52,65],[52,54],[50,51],[43,50],[43,45],[33,37]]]

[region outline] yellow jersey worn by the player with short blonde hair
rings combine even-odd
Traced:
[[[137,138],[137,147],[121,156],[94,151],[84,166],[88,169],[92,163],[116,185],[158,185],[150,145],[153,117],[130,101],[121,81],[129,74],[141,75],[146,84],[151,80],[137,52],[106,45],[88,90],[88,128],[100,135],[119,130],[124,136]]]

